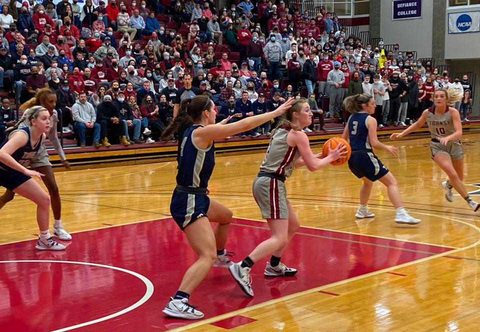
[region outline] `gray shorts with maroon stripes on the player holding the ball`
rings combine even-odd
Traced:
[[[253,198],[264,219],[288,219],[285,183],[271,177],[258,176],[252,185]]]

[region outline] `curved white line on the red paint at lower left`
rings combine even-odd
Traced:
[[[69,331],[71,329],[75,329],[75,328],[83,327],[83,326],[88,326],[88,325],[91,325],[91,324],[99,323],[101,321],[105,321],[105,320],[117,317],[119,315],[122,315],[124,313],[127,313],[128,311],[131,311],[131,310],[139,307],[140,305],[145,303],[151,297],[151,295],[153,294],[153,283],[151,283],[151,281],[146,276],[141,275],[140,273],[137,273],[137,272],[134,272],[134,271],[130,271],[130,270],[125,269],[125,268],[117,267],[117,266],[110,266],[110,265],[104,265],[104,264],[98,264],[98,263],[89,263],[89,262],[84,262],[84,261],[72,261],[72,260],[1,260],[0,261],[0,263],[24,263],[24,262],[28,262],[28,263],[30,263],[30,262],[67,263],[67,264],[81,264],[81,265],[106,267],[106,268],[114,269],[114,270],[117,270],[117,271],[120,271],[120,272],[125,272],[125,273],[128,273],[130,275],[133,275],[133,276],[137,277],[138,279],[140,279],[146,286],[145,293],[143,294],[143,296],[138,301],[136,301],[132,305],[130,305],[130,306],[128,306],[128,307],[126,307],[126,308],[124,308],[120,311],[117,311],[115,313],[109,314],[109,315],[104,316],[104,317],[100,317],[100,318],[97,318],[97,319],[93,319],[93,320],[90,320],[90,321],[79,323],[79,324],[76,324],[76,325],[71,325],[71,326],[55,329],[51,332]]]

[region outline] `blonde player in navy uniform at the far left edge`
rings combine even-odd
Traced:
[[[37,205],[36,221],[40,234],[35,247],[39,250],[63,250],[65,246],[54,241],[48,231],[50,197],[31,178],[41,178],[44,174],[27,168],[45,139],[45,133],[50,130],[50,113],[42,106],[34,106],[25,110],[23,117],[30,126],[14,127],[0,147],[0,185]]]

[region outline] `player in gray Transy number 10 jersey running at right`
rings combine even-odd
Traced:
[[[448,106],[448,91],[440,88],[433,94],[433,107],[425,109],[420,118],[400,133],[392,133],[390,139],[404,135],[420,128],[425,122],[430,131],[430,149],[433,160],[448,175],[448,180],[441,182],[445,189],[445,198],[453,201],[452,188],[466,200],[473,211],[480,204],[471,199],[463,184],[463,150],[461,148],[461,119],[458,110]]]

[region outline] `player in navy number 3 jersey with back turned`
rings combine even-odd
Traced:
[[[363,181],[360,188],[360,206],[355,216],[357,218],[375,216],[368,210],[367,203],[373,181],[379,180],[387,187],[388,197],[395,207],[395,222],[408,224],[420,222],[403,208],[395,177],[373,153],[372,147],[397,155],[396,147],[382,144],[376,136],[377,122],[375,117],[370,115],[375,113],[375,99],[364,93],[354,94],[346,97],[343,104],[345,109],[351,113],[342,134],[342,138],[349,139],[351,146],[348,167],[356,177]]]

